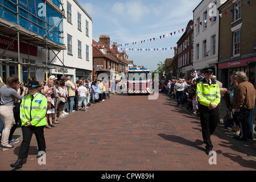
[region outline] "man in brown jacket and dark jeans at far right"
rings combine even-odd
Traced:
[[[253,108],[255,105],[255,89],[246,76],[245,72],[236,72],[238,86],[234,90],[233,106],[236,113],[248,113],[247,117],[240,120],[240,136],[234,136],[237,140],[246,141],[248,138],[253,139]],[[242,111],[242,107],[246,107]]]

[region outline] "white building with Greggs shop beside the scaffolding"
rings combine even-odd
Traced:
[[[60,78],[64,74],[73,81],[91,78],[93,67],[92,18],[76,0],[64,0],[65,19],[63,22],[64,45],[67,47],[56,57],[49,53],[49,61],[63,69],[50,69],[49,74]],[[55,52],[57,54],[57,52]],[[63,57],[64,56],[64,57]]]

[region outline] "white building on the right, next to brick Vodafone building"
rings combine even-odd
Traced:
[[[203,0],[193,10],[193,68],[214,67],[218,63],[218,27],[220,15],[217,8],[225,1]]]

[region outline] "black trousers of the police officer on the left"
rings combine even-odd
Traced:
[[[27,158],[33,132],[38,142],[38,150],[46,151],[46,140],[44,139],[44,126],[22,126],[23,141],[20,144],[18,158]]]

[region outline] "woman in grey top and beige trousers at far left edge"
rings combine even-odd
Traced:
[[[9,144],[10,130],[13,124],[15,124],[13,105],[14,98],[22,100],[25,92],[20,96],[17,93],[19,86],[19,78],[10,76],[7,78],[7,85],[3,85],[0,89],[0,117],[2,118],[2,123],[4,125],[2,130],[2,150],[8,150],[14,148],[14,146]]]

